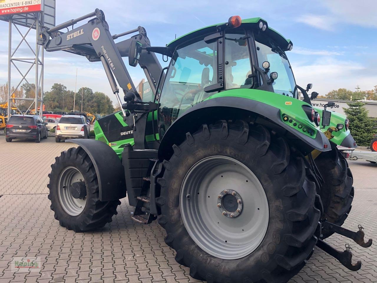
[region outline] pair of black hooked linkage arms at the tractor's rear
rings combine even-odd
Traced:
[[[372,245],[372,239],[369,239],[368,242],[364,241],[364,232],[362,231],[364,228],[359,225],[359,231],[353,232],[348,229],[342,228],[338,225],[335,225],[333,223],[330,223],[328,221],[322,222],[322,228],[327,229],[331,232],[340,234],[342,236],[345,236],[347,238],[350,238],[355,241],[358,245],[362,246],[363,248],[369,248]],[[348,268],[351,271],[357,271],[361,268],[361,261],[357,261],[356,264],[352,264],[352,252],[350,251],[352,248],[348,244],[345,245],[346,249],[343,252],[338,251],[337,249],[330,246],[328,243],[326,243],[323,240],[318,240],[316,246],[323,251],[327,252],[329,255],[333,256],[337,260],[339,260],[340,263],[342,263],[343,266]]]

